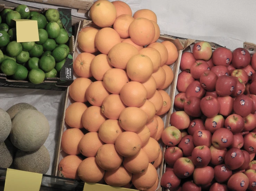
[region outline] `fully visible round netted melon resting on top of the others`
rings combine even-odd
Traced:
[[[22,151],[35,151],[42,147],[50,132],[50,125],[43,113],[26,109],[12,120],[10,139]]]

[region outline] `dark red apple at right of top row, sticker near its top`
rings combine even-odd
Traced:
[[[249,51],[244,48],[235,49],[232,52],[232,56],[232,65],[237,69],[245,68],[250,64],[251,55]]]

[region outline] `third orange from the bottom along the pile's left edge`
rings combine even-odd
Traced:
[[[65,122],[67,125],[69,125],[69,127],[82,129],[82,115],[86,109],[87,106],[81,102],[74,102],[69,105],[65,112]]]

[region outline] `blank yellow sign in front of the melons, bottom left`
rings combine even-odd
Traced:
[[[7,169],[4,191],[39,191],[43,174]]]

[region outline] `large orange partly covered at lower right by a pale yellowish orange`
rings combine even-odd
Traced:
[[[129,43],[116,44],[108,53],[108,62],[115,68],[126,69],[132,56],[139,54],[138,49]]]

